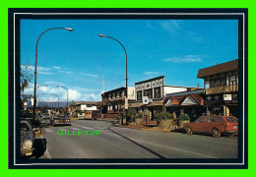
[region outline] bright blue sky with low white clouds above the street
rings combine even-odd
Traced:
[[[203,88],[199,69],[238,58],[237,20],[22,20],[21,65],[34,70],[35,43],[39,101],[100,101],[103,90],[165,76],[164,85]],[[104,85],[103,85],[104,83]],[[33,80],[26,94],[32,94]]]

